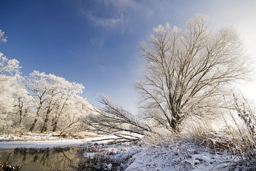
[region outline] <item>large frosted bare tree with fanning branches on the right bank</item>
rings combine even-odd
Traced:
[[[146,67],[136,90],[145,118],[179,132],[183,119],[217,106],[213,99],[222,97],[223,88],[248,78],[250,62],[239,34],[232,27],[213,32],[209,26],[208,17],[196,14],[185,30],[160,25],[140,44]]]

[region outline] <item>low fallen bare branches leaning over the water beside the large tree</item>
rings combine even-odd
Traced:
[[[139,139],[138,134],[144,135],[145,132],[152,132],[147,125],[139,123],[134,115],[120,105],[109,101],[107,97],[101,95],[99,101],[104,107],[93,108],[93,113],[83,119],[84,130],[113,134],[120,139],[129,140]]]

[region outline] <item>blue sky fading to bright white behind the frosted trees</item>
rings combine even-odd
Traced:
[[[82,83],[82,96],[93,105],[102,93],[136,111],[133,86],[144,65],[137,46],[159,24],[183,28],[195,14],[207,14],[212,29],[237,28],[256,57],[253,0],[0,0],[0,9],[0,29],[8,37],[0,51],[20,62],[22,75],[39,70]]]

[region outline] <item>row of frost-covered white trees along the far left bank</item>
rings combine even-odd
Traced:
[[[2,30],[0,41],[7,41]],[[0,53],[0,132],[75,131],[90,112],[80,96],[84,86],[39,71],[22,77],[20,68],[19,61]]]

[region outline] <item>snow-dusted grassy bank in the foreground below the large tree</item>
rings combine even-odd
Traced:
[[[106,151],[107,150],[107,151]],[[100,152],[100,150],[98,151]],[[105,168],[111,170],[111,162],[120,163],[126,171],[169,170],[255,170],[256,165],[246,163],[246,156],[231,154],[228,150],[210,149],[198,141],[140,142],[137,145],[106,145],[102,154],[90,152],[91,158],[102,159]],[[116,170],[116,168],[114,169]]]

